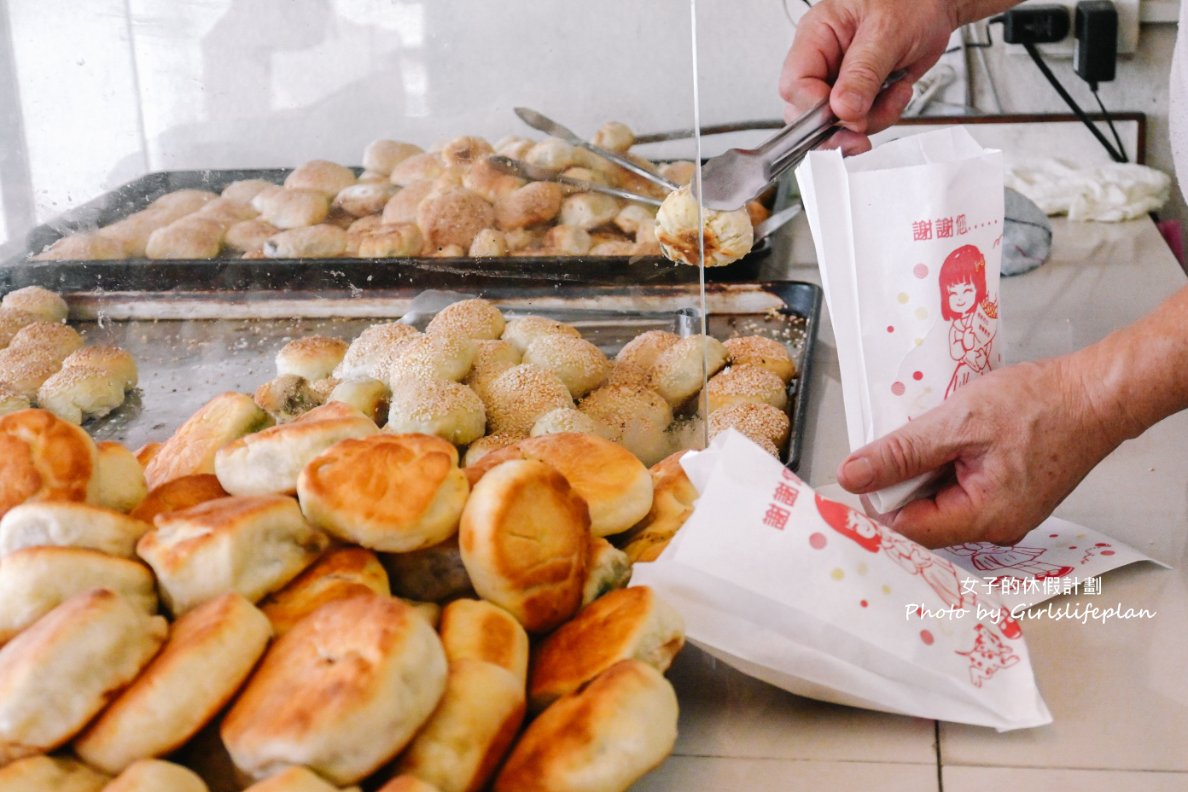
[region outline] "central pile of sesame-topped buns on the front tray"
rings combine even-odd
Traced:
[[[255,401],[278,423],[342,401],[387,431],[449,441],[467,464],[527,437],[573,431],[655,464],[729,427],[778,456],[796,374],[788,347],[763,336],[721,342],[649,330],[611,359],[570,324],[506,318],[475,298],[448,305],[423,332],[388,322],[349,342],[291,341]]]

